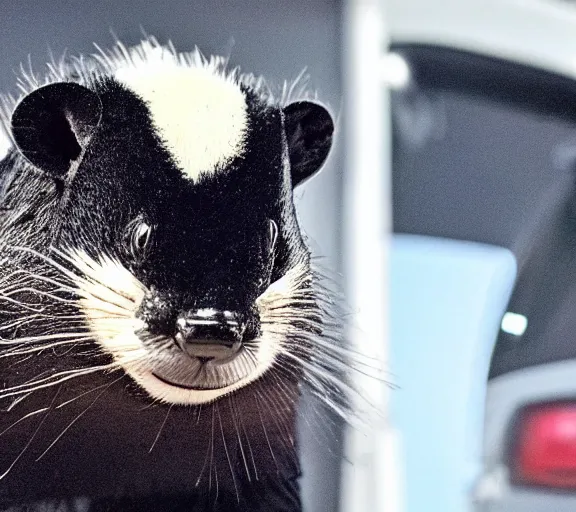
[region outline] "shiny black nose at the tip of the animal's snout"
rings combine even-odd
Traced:
[[[200,358],[229,356],[242,343],[246,329],[241,315],[232,311],[197,309],[176,320],[176,342],[185,352]]]

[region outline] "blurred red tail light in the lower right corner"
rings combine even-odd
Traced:
[[[510,462],[516,484],[576,490],[576,403],[525,409]]]

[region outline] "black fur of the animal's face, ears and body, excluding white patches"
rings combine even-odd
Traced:
[[[18,149],[0,162],[0,341],[78,331],[90,338],[82,321],[64,318],[78,310],[73,291],[50,280],[58,272],[46,257],[67,266],[54,248],[121,261],[152,290],[139,310],[151,332],[173,335],[183,312],[215,308],[240,315],[244,341],[258,334],[256,298],[296,264],[309,265],[293,186],[323,164],[333,125],[319,105],[281,107],[242,90],[245,154],[196,182],[158,138],[144,102],[112,78],[54,83],[19,104]],[[127,247],[135,219],[152,227],[136,253]],[[22,273],[26,285],[9,288]],[[90,339],[10,357],[17,349],[0,345],[4,389],[110,362]],[[88,496],[94,511],[299,510],[299,375],[287,361],[196,407],[155,403],[126,376],[106,372],[40,389],[14,408],[6,401],[0,473],[16,464],[0,480],[0,506]]]

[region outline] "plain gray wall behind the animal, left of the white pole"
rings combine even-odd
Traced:
[[[206,54],[228,54],[231,63],[281,84],[304,66],[319,98],[338,114],[340,84],[340,2],[338,0],[0,0],[0,90],[14,92],[15,71],[28,56],[42,69],[48,49],[59,56],[90,53],[92,43],[107,47],[112,29],[127,44],[141,27],[176,48],[194,45]],[[341,163],[332,154],[324,171],[298,191],[299,213],[315,254],[323,265],[339,267]],[[307,408],[301,444],[306,510],[336,510],[339,437],[310,433],[324,429]]]

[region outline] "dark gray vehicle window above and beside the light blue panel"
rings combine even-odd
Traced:
[[[394,48],[394,231],[511,249],[518,279],[491,377],[576,356],[576,83],[455,50]]]

